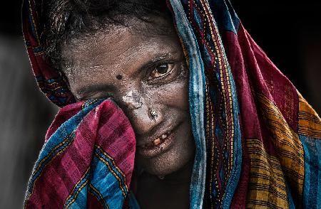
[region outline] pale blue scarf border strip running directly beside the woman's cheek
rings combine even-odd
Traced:
[[[178,35],[188,51],[190,69],[189,103],[192,130],[195,139],[195,161],[190,185],[190,208],[203,207],[206,174],[205,148],[205,72],[198,43],[185,16],[182,4],[178,0],[170,0],[178,28]]]

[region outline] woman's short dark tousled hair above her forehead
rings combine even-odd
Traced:
[[[51,0],[42,3],[41,44],[54,68],[61,68],[63,44],[108,25],[126,26],[126,18],[170,17],[165,0]]]

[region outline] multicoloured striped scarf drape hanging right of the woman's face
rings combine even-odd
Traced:
[[[253,41],[229,1],[170,0],[170,8],[188,53],[190,96],[198,90],[190,100],[194,138],[206,146],[205,159],[196,146],[191,208],[320,207],[317,113]],[[201,109],[204,121],[193,113]],[[205,140],[195,132],[200,127]]]

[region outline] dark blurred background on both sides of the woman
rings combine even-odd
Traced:
[[[0,8],[0,208],[21,208],[31,168],[58,110],[36,87],[21,34],[21,1]],[[320,1],[233,0],[243,25],[321,113]]]

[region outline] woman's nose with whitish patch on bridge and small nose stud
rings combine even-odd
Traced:
[[[162,121],[161,109],[146,100],[146,96],[133,90],[126,91],[121,97],[123,109],[131,121],[136,134],[144,135],[151,132]]]

